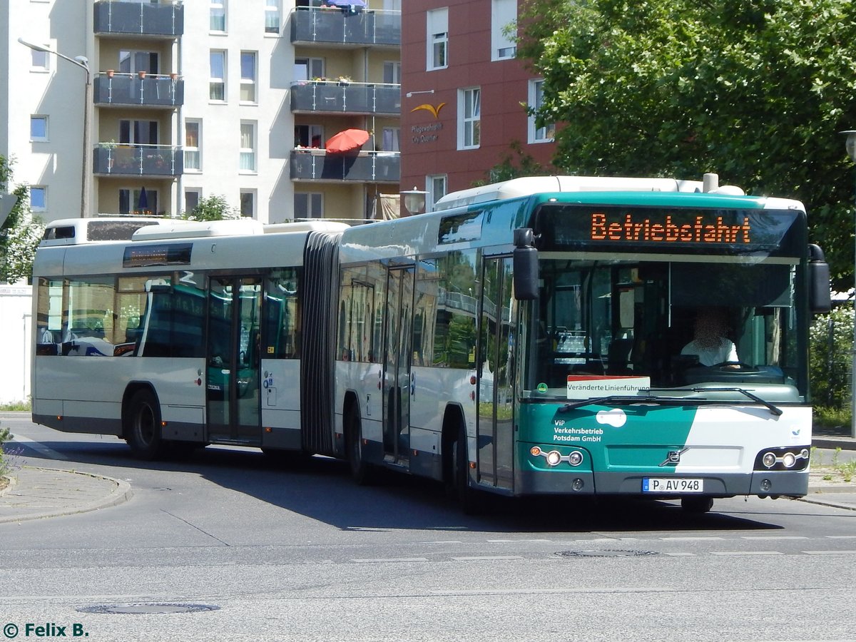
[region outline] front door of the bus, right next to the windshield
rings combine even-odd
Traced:
[[[479,480],[514,484],[514,318],[511,259],[484,259],[479,333]]]

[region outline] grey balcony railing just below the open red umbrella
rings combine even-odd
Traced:
[[[399,152],[360,152],[357,156],[328,154],[321,149],[291,152],[292,181],[397,184],[400,177]]]

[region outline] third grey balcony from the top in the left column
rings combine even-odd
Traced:
[[[96,175],[163,178],[184,172],[181,147],[101,143],[93,152]]]

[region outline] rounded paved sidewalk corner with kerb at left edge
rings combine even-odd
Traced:
[[[120,479],[58,468],[22,467],[0,490],[0,524],[86,513],[116,506],[133,495]]]

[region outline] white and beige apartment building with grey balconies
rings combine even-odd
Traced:
[[[176,216],[211,195],[265,223],[361,220],[399,192],[401,0],[11,0],[0,12],[0,153],[45,220]],[[367,140],[326,152],[347,129]]]

